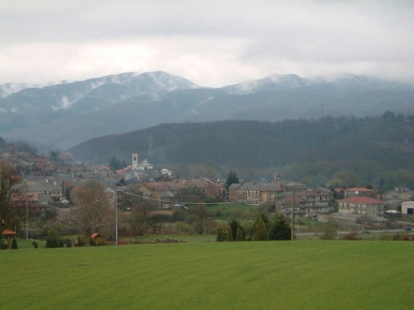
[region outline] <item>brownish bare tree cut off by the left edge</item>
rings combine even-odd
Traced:
[[[12,187],[20,182],[20,178],[11,163],[0,161],[0,245],[3,230],[10,225],[13,217]]]

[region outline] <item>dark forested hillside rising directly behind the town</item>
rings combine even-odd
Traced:
[[[149,136],[154,139],[151,155]],[[233,169],[242,178],[269,179],[282,172],[285,178],[324,183],[337,172],[350,172],[352,183],[414,187],[414,118],[393,112],[379,118],[162,124],[94,138],[69,151],[95,164],[108,164],[113,156],[130,163],[137,152],[140,160],[181,176],[223,177]]]

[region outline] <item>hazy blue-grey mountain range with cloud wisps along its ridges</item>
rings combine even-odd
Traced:
[[[370,76],[273,74],[212,88],[166,72],[128,72],[43,87],[0,85],[0,136],[46,152],[162,123],[282,121],[414,114],[414,87]]]

